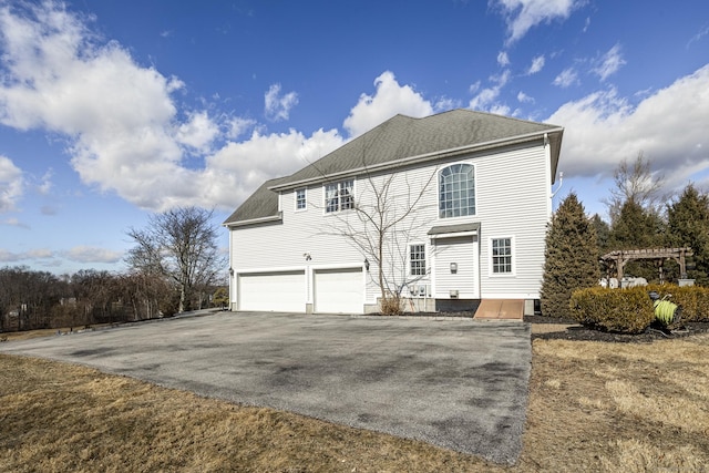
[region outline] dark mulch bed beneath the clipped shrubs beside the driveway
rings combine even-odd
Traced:
[[[561,339],[607,341],[615,343],[649,343],[655,340],[681,338],[709,332],[709,322],[685,322],[671,331],[648,328],[643,333],[628,335],[594,330],[589,327],[580,326],[574,320],[555,317],[525,316],[524,321],[530,323],[565,323],[569,326],[566,330],[551,331],[546,333],[532,333],[532,339],[543,340]]]

